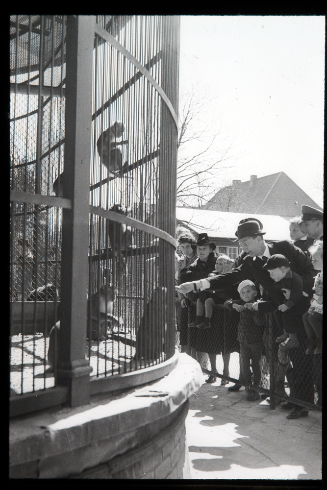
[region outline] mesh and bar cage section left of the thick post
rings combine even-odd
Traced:
[[[53,195],[52,183],[63,170],[65,98],[53,91],[65,87],[65,29],[61,16],[10,17],[10,183],[15,191]],[[29,88],[40,80],[47,93],[41,97]],[[22,318],[21,331],[11,336],[12,394],[54,386],[45,373],[53,324],[47,311],[60,300],[61,227],[61,208],[11,203],[10,294]]]

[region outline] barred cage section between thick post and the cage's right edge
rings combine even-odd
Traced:
[[[160,17],[97,16],[95,22],[146,66],[160,84]],[[103,42],[100,36],[95,36],[94,46],[90,202],[93,206],[127,213],[131,218],[162,228],[157,217],[158,202],[160,197],[164,198],[159,193],[159,169],[164,174],[167,166],[167,183],[170,175],[169,162],[160,159],[160,135],[168,131],[171,116],[163,116],[161,98],[130,60]],[[122,165],[119,168],[111,164],[108,169],[110,163],[103,164],[105,148],[101,134],[116,122],[125,127],[118,137],[112,130],[113,148],[118,148],[116,152]],[[172,151],[173,141],[171,138],[166,146],[168,154]],[[113,208],[115,204],[119,208]],[[174,213],[168,202],[165,212]],[[167,298],[173,297],[174,285],[168,278],[168,270],[174,267],[174,248],[137,227],[127,226],[126,233],[122,231],[123,227],[115,221],[91,216],[89,297],[110,281],[117,288],[113,311],[116,317],[124,319],[121,325],[111,322],[110,338],[98,343],[97,366],[96,369],[93,366],[92,376],[102,375],[103,370],[109,375],[147,367],[171,355],[167,326],[172,322],[175,326],[175,319],[172,321],[171,318],[174,305],[172,300],[167,304]],[[173,230],[168,231],[173,234]],[[97,328],[100,330],[100,314],[98,317]],[[91,314],[89,329],[92,327],[90,318]],[[120,343],[122,339],[123,343]],[[95,346],[90,343],[92,364]],[[106,349],[112,359],[101,357]]]

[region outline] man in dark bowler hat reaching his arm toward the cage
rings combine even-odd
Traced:
[[[182,284],[179,288],[184,294],[193,291],[195,288],[200,290],[209,288],[224,289],[246,279],[251,278],[253,280],[252,278],[254,278],[261,284],[267,294],[275,300],[273,291],[274,281],[270,277],[268,270],[264,269],[263,266],[271,255],[279,253],[287,257],[291,270],[302,276],[304,300],[307,301],[308,308],[310,307],[310,299],[313,294],[312,287],[314,285],[313,277],[315,275],[310,257],[288,240],[266,244],[263,239],[265,232],[260,228],[258,221],[245,221],[239,224],[235,235],[239,245],[243,248],[241,254],[242,260],[238,267],[225,274]],[[313,403],[312,359],[310,356],[305,355],[306,335],[303,325],[301,325],[301,332],[303,335],[299,335],[300,345],[298,352],[290,352],[290,358],[292,357],[291,361],[293,364],[293,390],[291,392],[295,398]],[[308,411],[306,409],[296,405],[294,411],[288,417],[305,417],[307,413]]]

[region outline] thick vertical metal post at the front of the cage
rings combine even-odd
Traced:
[[[69,388],[69,405],[90,400],[85,359],[89,245],[93,23],[91,16],[68,16],[61,318],[57,384]]]

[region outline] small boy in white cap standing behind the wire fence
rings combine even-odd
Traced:
[[[265,325],[265,316],[262,313],[252,310],[252,304],[257,295],[255,284],[252,281],[249,279],[242,281],[237,291],[241,299],[227,300],[224,306],[230,309],[233,308],[240,314],[237,332],[237,340],[240,343],[240,381],[251,385],[252,367],[253,385],[260,386],[260,359],[263,351],[262,334]],[[247,400],[254,401],[259,398],[260,395],[258,392],[251,390],[250,387],[246,388]]]

